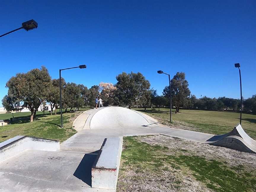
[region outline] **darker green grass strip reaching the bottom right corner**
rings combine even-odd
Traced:
[[[208,161],[204,157],[187,155],[168,156],[168,159],[170,162],[188,167],[196,180],[214,191],[249,191],[256,187],[255,176],[243,169],[240,170],[242,174],[238,174],[220,161]]]

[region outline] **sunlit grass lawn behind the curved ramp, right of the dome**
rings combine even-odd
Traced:
[[[151,108],[147,108],[146,111],[142,108],[133,109],[147,113],[161,123],[169,124],[170,113],[167,108],[160,108],[160,111],[158,108],[153,111]],[[175,110],[172,109],[172,121],[169,125],[218,135],[230,132],[240,122],[240,113],[180,109],[180,113],[175,114]],[[243,113],[242,127],[250,137],[256,139],[256,115]]]

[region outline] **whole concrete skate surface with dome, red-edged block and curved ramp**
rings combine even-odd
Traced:
[[[2,161],[0,191],[115,191],[123,136],[163,134],[212,145],[226,143],[225,147],[233,143],[233,148],[252,152],[256,146],[240,125],[228,134],[211,135],[165,127],[146,114],[121,107],[85,111],[73,126],[78,132],[57,151],[27,149]],[[109,176],[111,170],[114,174]],[[115,178],[113,183],[109,177]]]

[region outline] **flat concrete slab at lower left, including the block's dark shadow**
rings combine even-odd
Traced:
[[[96,157],[97,153],[25,151],[0,164],[0,191],[93,191],[91,167]]]

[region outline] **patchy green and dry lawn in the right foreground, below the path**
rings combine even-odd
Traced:
[[[117,191],[255,191],[255,160],[163,135],[124,137]]]

